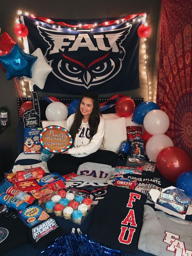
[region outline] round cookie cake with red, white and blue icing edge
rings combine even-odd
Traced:
[[[72,144],[68,130],[60,126],[47,126],[40,134],[41,145],[50,152],[62,153]]]

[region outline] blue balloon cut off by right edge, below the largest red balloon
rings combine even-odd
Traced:
[[[192,196],[192,171],[182,173],[176,181],[176,186],[188,195]]]

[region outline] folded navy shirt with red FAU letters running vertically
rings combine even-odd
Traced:
[[[88,235],[112,249],[135,253],[146,199],[140,192],[109,185],[107,195],[96,206]]]

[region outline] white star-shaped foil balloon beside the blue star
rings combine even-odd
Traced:
[[[37,48],[32,55],[37,57],[36,62],[34,62],[31,68],[32,78],[24,77],[24,80],[31,81],[42,90],[45,86],[47,76],[53,70],[53,68],[51,68],[45,60],[40,48]]]

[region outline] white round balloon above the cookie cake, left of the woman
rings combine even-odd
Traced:
[[[68,116],[68,109],[62,102],[51,102],[45,110],[48,121],[63,121]]]

